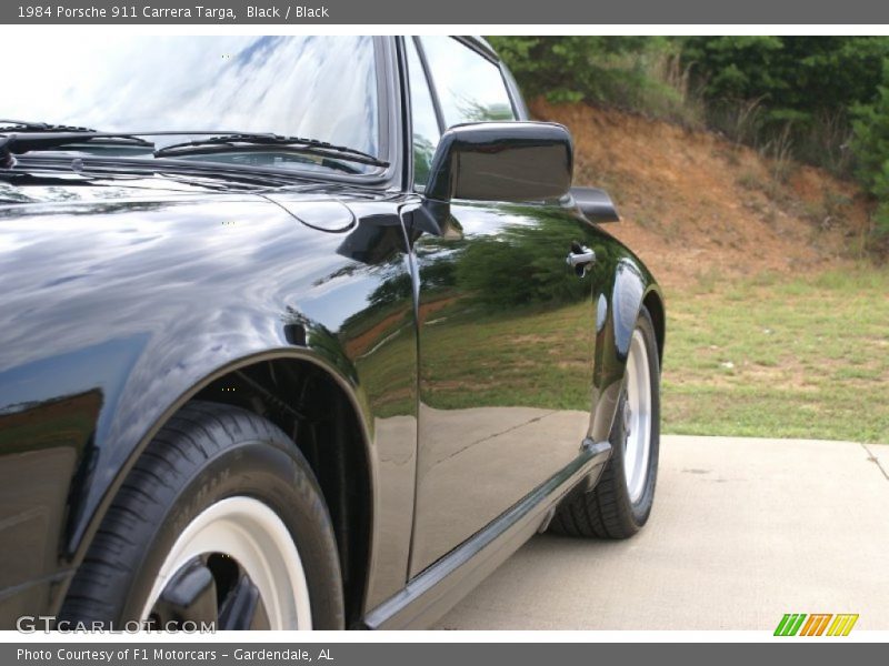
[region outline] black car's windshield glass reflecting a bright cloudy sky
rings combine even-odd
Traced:
[[[49,39],[43,46],[33,36],[4,44],[19,57],[4,74],[0,118],[102,132],[183,130],[151,137],[157,148],[206,138],[188,131],[219,130],[301,137],[381,157],[370,37]],[[178,159],[324,169],[323,160],[278,154],[273,147]]]

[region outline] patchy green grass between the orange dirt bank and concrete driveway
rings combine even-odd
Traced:
[[[889,443],[889,271],[708,276],[667,310],[665,432]]]

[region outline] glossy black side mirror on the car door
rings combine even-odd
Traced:
[[[571,134],[551,122],[478,122],[441,135],[426,199],[447,203],[558,200],[571,186]]]

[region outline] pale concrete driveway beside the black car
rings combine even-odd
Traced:
[[[889,446],[665,436],[626,542],[533,538],[448,629],[765,629],[858,613],[889,629]]]

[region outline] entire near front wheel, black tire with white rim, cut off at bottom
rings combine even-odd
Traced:
[[[254,414],[190,403],[127,476],[60,618],[341,628],[336,541],[308,463]]]

